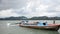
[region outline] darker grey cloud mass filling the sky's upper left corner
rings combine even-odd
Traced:
[[[27,0],[2,0],[0,1],[0,10],[3,9],[18,9],[26,6]]]

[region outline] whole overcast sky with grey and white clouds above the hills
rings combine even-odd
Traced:
[[[60,17],[60,0],[0,0],[0,18],[10,16]]]

